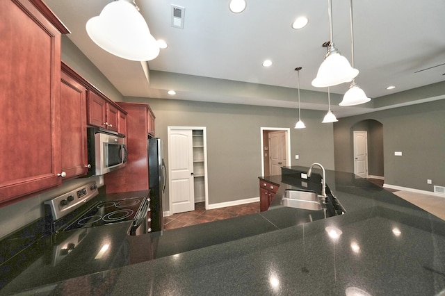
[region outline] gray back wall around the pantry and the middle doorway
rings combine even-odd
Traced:
[[[291,128],[292,165],[319,162],[334,169],[332,124],[321,123],[322,111],[302,110],[307,128],[298,130],[293,129],[298,114],[295,109],[135,97],[125,101],[150,105],[166,161],[167,126],[207,128],[209,204],[259,197],[261,127]],[[300,156],[298,161],[295,154]]]

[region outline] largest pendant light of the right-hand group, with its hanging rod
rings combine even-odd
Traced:
[[[325,60],[318,68],[317,76],[312,81],[316,88],[325,88],[327,86],[337,85],[352,81],[359,74],[359,70],[350,66],[348,60],[341,56],[339,50],[334,45],[332,33],[332,3],[327,0],[327,13],[329,15],[329,35],[330,42],[327,49]]]

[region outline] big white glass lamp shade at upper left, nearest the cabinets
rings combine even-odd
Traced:
[[[110,54],[127,60],[153,60],[159,45],[144,17],[129,0],[108,3],[99,16],[86,23],[91,40]]]

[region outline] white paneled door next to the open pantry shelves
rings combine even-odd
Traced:
[[[168,129],[170,212],[195,211],[191,129]]]

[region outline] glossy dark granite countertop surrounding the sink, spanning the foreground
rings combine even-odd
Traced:
[[[443,220],[354,174],[327,171],[346,214],[306,222],[280,199],[286,188],[317,190],[319,179],[302,181],[291,173],[307,168],[288,169],[261,177],[280,185],[266,212],[121,237],[118,268],[36,281],[32,288],[11,288],[20,282],[13,279],[0,295],[26,289],[44,295],[445,294]],[[331,229],[341,235],[332,238]],[[17,278],[33,277],[31,267]]]

